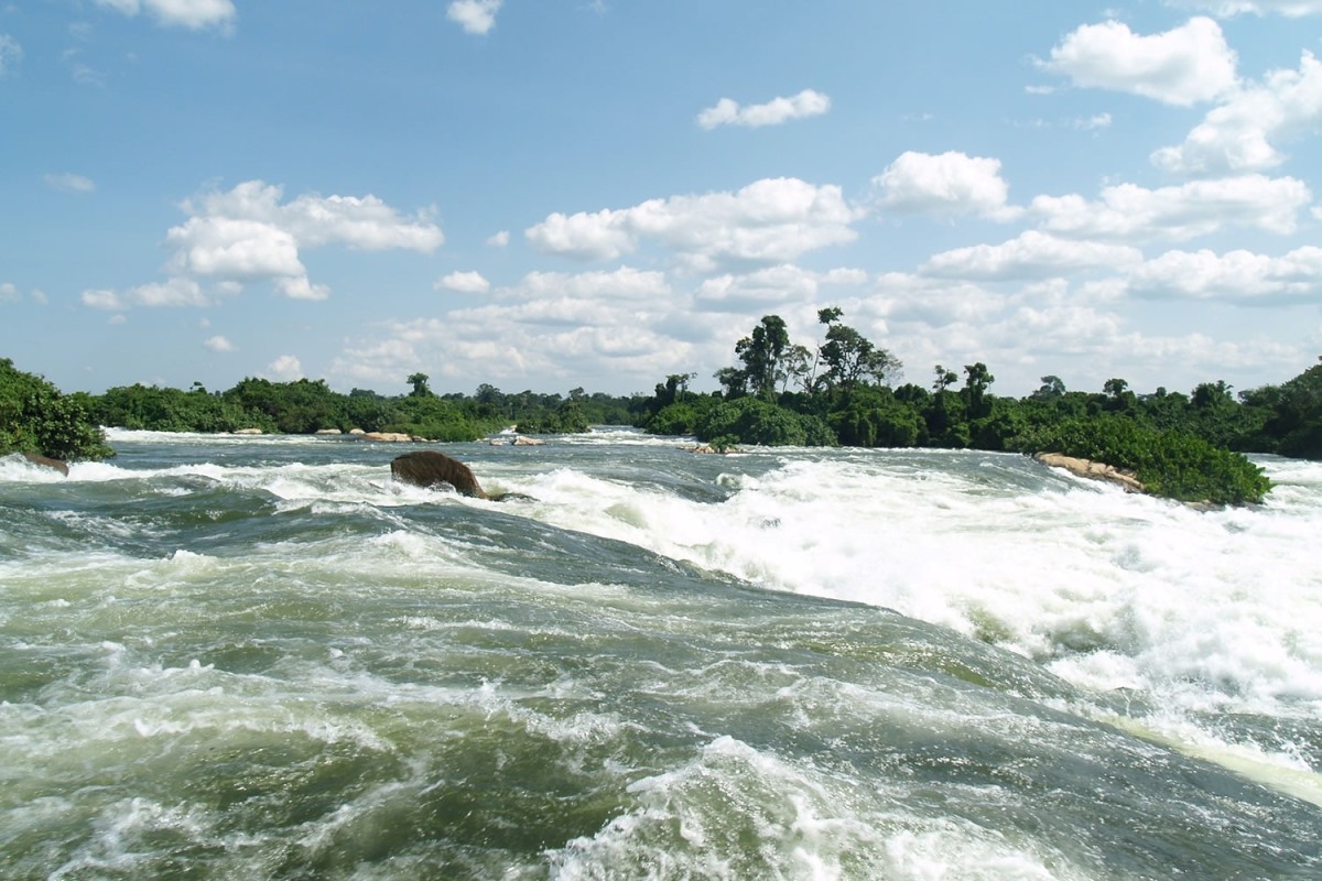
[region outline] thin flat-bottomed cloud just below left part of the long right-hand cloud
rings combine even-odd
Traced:
[[[1029,230],[1003,244],[977,244],[933,255],[920,272],[953,279],[1040,279],[1142,262],[1138,248],[1076,242]]]

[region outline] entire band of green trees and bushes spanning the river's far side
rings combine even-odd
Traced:
[[[410,391],[379,395],[332,390],[325,380],[245,378],[208,391],[120,386],[102,395],[62,394],[0,359],[0,454],[56,460],[112,456],[102,425],[167,432],[381,432],[430,441],[468,441],[508,427],[530,435],[635,425],[691,436],[707,448],[740,445],[940,448],[1055,453],[1120,469],[1142,491],[1212,505],[1257,503],[1270,490],[1245,453],[1322,458],[1322,365],[1278,386],[1231,394],[1223,380],[1190,394],[1130,390],[1113,378],[1099,392],[1066,388],[1059,376],[1023,398],[993,394],[982,362],[943,365],[927,384],[899,383],[888,350],[818,312],[813,345],[791,341],[785,321],[764,316],[735,342],[736,365],[714,374],[718,391],[689,388],[676,372],[652,395],[611,396],[574,388],[567,396],[506,394],[480,384],[472,395],[438,395],[428,376]]]

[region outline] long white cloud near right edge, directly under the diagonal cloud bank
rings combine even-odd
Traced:
[[[1108,186],[1100,201],[1081,195],[1039,195],[1029,207],[1042,227],[1058,235],[1142,244],[1150,239],[1187,240],[1225,226],[1294,232],[1313,193],[1293,177],[1245,174],[1191,181],[1150,190],[1136,184]]]

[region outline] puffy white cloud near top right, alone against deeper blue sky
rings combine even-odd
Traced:
[[[1083,25],[1039,66],[1075,86],[1109,88],[1187,107],[1235,87],[1236,55],[1219,24],[1196,17],[1145,37],[1120,21]]]

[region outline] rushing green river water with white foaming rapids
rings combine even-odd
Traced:
[[[1322,464],[112,432],[0,460],[0,877],[1322,877]]]

